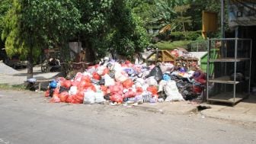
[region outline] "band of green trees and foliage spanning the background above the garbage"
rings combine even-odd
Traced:
[[[28,73],[44,49],[68,50],[72,41],[91,60],[106,52],[133,59],[149,45],[171,50],[201,40],[203,10],[219,12],[219,0],[2,0],[0,46],[27,58]]]

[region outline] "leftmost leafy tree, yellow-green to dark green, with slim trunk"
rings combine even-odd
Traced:
[[[13,0],[12,5],[5,16],[2,40],[9,56],[27,57],[31,78],[34,57],[45,48],[63,46],[79,29],[80,14],[69,0]]]

